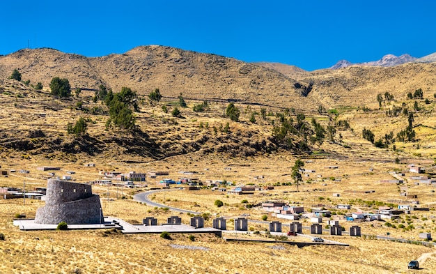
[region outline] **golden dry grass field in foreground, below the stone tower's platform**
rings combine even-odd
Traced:
[[[107,235],[107,236],[105,236]],[[225,243],[215,236],[103,234],[102,231],[9,232],[0,247],[3,273],[407,273],[407,262],[434,249],[341,238],[350,247]],[[209,250],[185,250],[171,245]],[[433,273],[435,258],[421,264]]]

